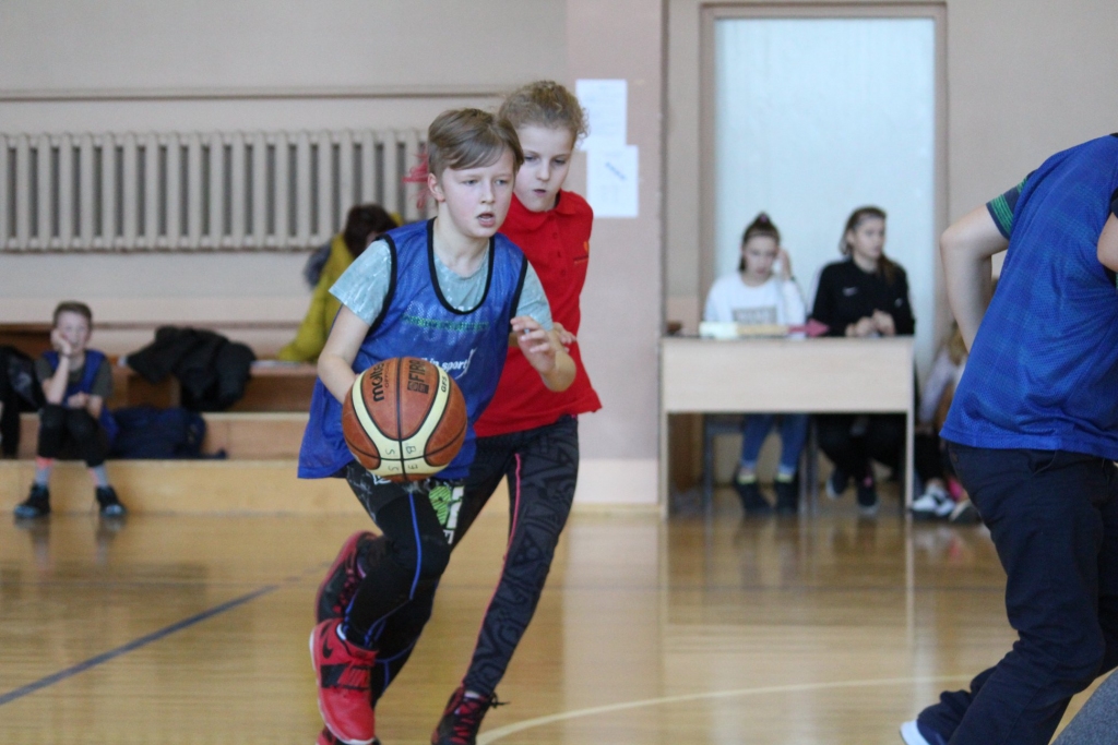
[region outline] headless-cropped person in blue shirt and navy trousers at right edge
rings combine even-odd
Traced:
[[[989,527],[1018,638],[904,723],[908,745],[1046,745],[1071,697],[1118,665],[1116,214],[1118,136],[1099,137],[940,240],[970,348],[940,437]]]

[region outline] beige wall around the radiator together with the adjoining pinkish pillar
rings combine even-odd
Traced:
[[[10,0],[0,131],[426,127],[537,78],[629,80],[641,217],[598,220],[584,357],[605,403],[581,424],[580,499],[655,500],[663,13],[657,0]],[[618,44],[624,39],[625,44]],[[585,191],[579,159],[571,188]],[[63,297],[102,321],[297,321],[303,255],[0,255],[0,319]],[[257,334],[267,351],[285,332]],[[132,336],[112,336],[124,352]]]

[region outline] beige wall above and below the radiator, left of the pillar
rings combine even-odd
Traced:
[[[0,131],[426,127],[444,108],[561,78],[565,19],[561,0],[10,0]],[[0,256],[0,318],[85,297],[103,321],[297,321],[304,258]]]

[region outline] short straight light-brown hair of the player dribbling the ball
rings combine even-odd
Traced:
[[[508,121],[480,108],[446,111],[427,128],[427,172],[439,178],[446,169],[492,165],[505,150],[512,153],[513,171],[519,171],[524,151]]]

